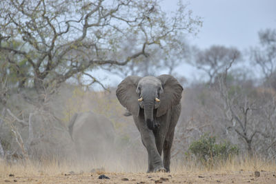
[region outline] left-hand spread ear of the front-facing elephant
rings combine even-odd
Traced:
[[[140,76],[128,76],[119,83],[116,90],[116,96],[121,105],[127,108],[134,116],[139,116],[139,95],[136,93],[136,88],[141,79]]]

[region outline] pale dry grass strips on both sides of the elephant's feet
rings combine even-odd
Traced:
[[[0,176],[14,173],[23,174],[24,176],[32,176],[39,173],[44,174],[63,174],[66,172],[90,172],[92,169],[104,168],[106,172],[145,172],[146,164],[126,163],[124,165],[119,160],[107,161],[106,163],[96,163],[95,161],[18,161],[17,163],[7,163],[0,161]],[[226,162],[217,164],[216,167],[207,168],[202,165],[197,165],[195,161],[186,161],[186,164],[181,161],[172,161],[171,172],[235,172],[235,171],[276,171],[275,161],[264,161],[257,157],[253,159],[242,159],[236,157],[235,159],[228,159]]]

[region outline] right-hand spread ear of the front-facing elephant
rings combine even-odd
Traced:
[[[157,109],[157,117],[159,117],[166,114],[173,105],[180,103],[183,88],[177,79],[169,74],[162,74],[157,78],[161,81],[164,89],[160,96],[159,108]]]

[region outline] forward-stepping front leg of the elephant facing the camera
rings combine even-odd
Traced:
[[[148,152],[148,172],[165,170],[161,156],[155,145],[155,136],[152,130],[149,130],[148,127],[141,130],[141,139]]]

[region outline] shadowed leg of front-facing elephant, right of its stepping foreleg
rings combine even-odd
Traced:
[[[172,141],[175,131],[172,131],[166,140],[164,141],[164,147],[163,147],[163,163],[164,167],[166,169],[166,172],[170,172],[170,149],[172,148]]]

